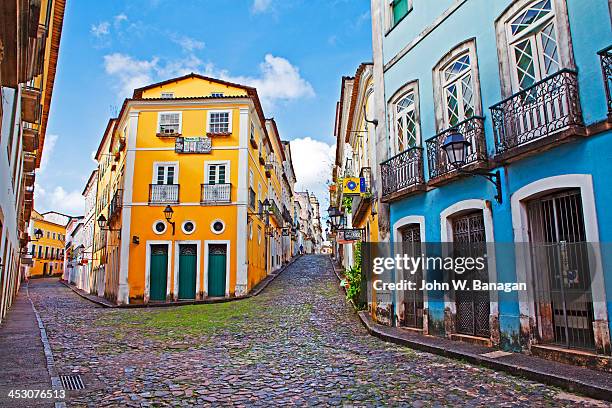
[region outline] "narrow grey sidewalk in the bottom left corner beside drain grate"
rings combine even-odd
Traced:
[[[28,298],[27,286],[23,285],[0,325],[0,406],[55,406],[57,400],[53,399],[14,399],[8,396],[11,390],[54,389],[47,360],[41,328]]]

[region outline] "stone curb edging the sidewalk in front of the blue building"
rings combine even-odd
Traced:
[[[334,274],[338,278],[338,280],[342,280],[342,277],[336,271],[333,259],[329,257],[329,261],[331,264],[331,268],[334,271]],[[346,291],[346,288],[345,288]],[[563,388],[570,392],[577,392],[583,394],[587,397],[596,398],[600,400],[612,401],[612,389],[600,387],[596,384],[587,383],[584,381],[580,381],[576,378],[567,377],[564,375],[555,375],[550,372],[545,372],[541,370],[536,370],[534,368],[520,366],[515,364],[509,364],[500,360],[495,360],[493,358],[485,357],[479,354],[471,354],[465,353],[455,350],[446,349],[444,347],[439,347],[433,344],[428,344],[427,342],[419,342],[416,340],[408,340],[401,337],[394,336],[390,333],[385,333],[384,328],[386,326],[379,325],[374,323],[367,312],[365,311],[357,311],[357,315],[359,316],[359,320],[366,328],[368,333],[372,336],[378,337],[381,340],[384,340],[389,343],[398,344],[401,346],[407,346],[412,349],[424,351],[427,353],[437,354],[440,356],[453,358],[456,360],[467,361],[472,364],[484,366],[487,368],[491,368],[497,371],[503,371],[518,377],[527,378],[529,380],[537,381],[540,383],[544,383],[547,385],[552,385],[555,387]]]

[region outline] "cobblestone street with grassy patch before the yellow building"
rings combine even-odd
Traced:
[[[103,309],[31,285],[69,406],[576,406],[603,402],[369,336],[324,256],[261,295],[214,305]]]

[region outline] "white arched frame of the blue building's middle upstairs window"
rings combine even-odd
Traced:
[[[436,131],[441,132],[450,127],[448,120],[447,101],[444,80],[444,71],[457,59],[469,55],[470,73],[472,76],[472,100],[474,104],[474,115],[482,116],[482,99],[480,94],[480,74],[478,72],[478,56],[476,54],[476,39],[470,38],[451,49],[444,55],[433,69],[434,100],[436,111]],[[463,104],[463,101],[460,102]],[[463,110],[463,108],[462,108]],[[465,120],[468,118],[460,118]]]

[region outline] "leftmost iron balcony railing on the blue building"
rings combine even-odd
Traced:
[[[423,148],[412,147],[380,164],[383,196],[423,184]]]

